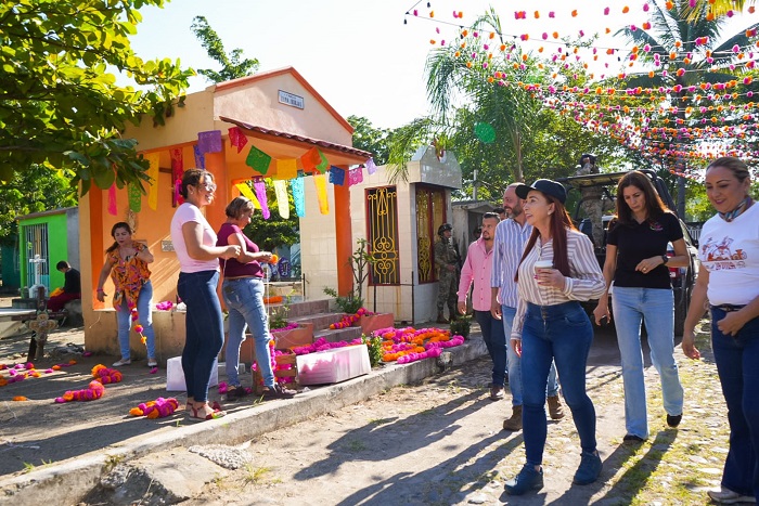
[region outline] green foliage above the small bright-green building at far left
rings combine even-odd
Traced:
[[[0,198],[0,244],[12,245],[18,233],[20,216],[77,205],[76,187],[69,184],[73,172],[51,170],[33,164],[16,172],[2,186]]]

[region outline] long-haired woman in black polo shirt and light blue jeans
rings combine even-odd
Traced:
[[[674,256],[667,256],[672,243]],[[612,319],[612,293],[617,343],[625,382],[625,441],[648,438],[646,394],[643,379],[641,321],[645,323],[651,362],[661,379],[667,424],[682,418],[683,388],[674,362],[674,298],[668,267],[687,267],[689,257],[678,218],[659,198],[654,184],[632,170],[617,184],[617,216],[609,223],[604,278],[606,293],[593,312],[595,323]],[[614,289],[609,286],[614,281]]]

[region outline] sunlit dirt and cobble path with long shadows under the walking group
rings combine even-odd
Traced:
[[[524,463],[522,432],[505,432],[506,400],[489,400],[491,363],[466,363],[420,385],[284,428],[245,445],[250,464],[211,479],[189,505],[703,505],[718,486],[726,411],[706,335],[692,362],[678,349],[686,391],[683,421],[668,428],[660,387],[646,369],[651,438],[622,444],[623,397],[613,333],[600,333],[588,371],[597,412],[601,479],[571,484],[579,440],[571,417],[549,423],[545,486],[520,497],[503,485]],[[615,359],[616,356],[616,359]],[[567,410],[568,411],[568,410]],[[567,413],[568,414],[568,413]]]

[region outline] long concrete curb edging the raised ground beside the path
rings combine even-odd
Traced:
[[[452,363],[461,365],[487,354],[481,335],[473,334],[464,345],[451,348]],[[231,413],[219,420],[183,425],[177,430],[125,446],[108,446],[28,473],[0,479],[0,504],[76,504],[94,489],[102,475],[116,464],[152,452],[193,444],[236,444],[266,432],[294,425],[363,401],[383,390],[420,381],[440,371],[438,361],[426,359],[403,365],[387,365],[365,376],[310,390],[288,401],[262,403]]]

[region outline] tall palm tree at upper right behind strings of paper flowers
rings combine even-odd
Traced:
[[[741,2],[742,4],[744,2]],[[706,4],[706,2],[699,2]],[[697,13],[695,18],[689,15]],[[656,2],[652,2],[652,27],[648,30],[623,28],[617,33],[639,48],[649,48],[649,51],[639,53],[644,62],[654,62],[658,55],[660,62],[669,62],[670,54],[676,55],[678,68],[684,73],[668,72],[656,73],[653,77],[641,74],[629,79],[631,88],[658,88],[660,86],[680,90],[671,96],[672,105],[678,106],[678,119],[686,120],[685,106],[687,88],[699,82],[726,82],[736,79],[735,73],[729,66],[734,62],[734,46],[746,47],[750,43],[745,31],[734,34],[726,39],[721,37],[721,31],[726,23],[726,17],[711,17],[707,9],[695,10],[690,7],[689,0],[673,2],[670,10],[662,9]],[[759,24],[754,24],[749,29],[755,29]],[[704,39],[706,38],[706,39]],[[707,43],[696,41],[707,40]],[[719,40],[723,42],[718,43]],[[717,68],[717,72],[711,72]],[[690,102],[690,105],[696,105]],[[685,179],[678,178],[678,212],[685,212]]]

